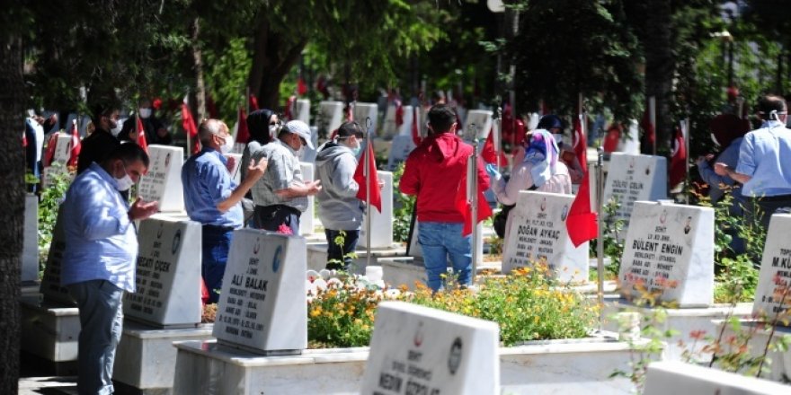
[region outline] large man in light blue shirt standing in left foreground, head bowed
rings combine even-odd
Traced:
[[[135,291],[138,237],[133,221],[156,213],[157,203],[138,198],[129,203],[120,192],[129,189],[148,168],[148,155],[129,143],[108,158],[93,162],[69,187],[60,207],[66,234],[61,284],[68,288],[80,313],[80,394],[111,394],[112,364],[123,326],[121,299]]]

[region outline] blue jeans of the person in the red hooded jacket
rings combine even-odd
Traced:
[[[418,223],[418,242],[423,250],[423,265],[426,267],[426,276],[429,287],[438,291],[442,288],[443,279],[440,277],[448,270],[448,257],[453,264],[453,273],[457,276],[458,284],[470,284],[472,271],[472,254],[470,240],[472,236],[462,237],[461,223]]]

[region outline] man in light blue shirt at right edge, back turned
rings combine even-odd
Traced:
[[[760,128],[744,136],[736,168],[715,164],[715,172],[741,182],[742,194],[750,201],[745,207],[752,217],[769,227],[778,208],[791,206],[791,130],[786,127],[786,101],[769,95],[758,103]]]

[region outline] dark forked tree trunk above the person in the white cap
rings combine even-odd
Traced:
[[[253,37],[253,66],[247,87],[254,92],[262,109],[280,109],[280,83],[297,64],[307,39],[293,39],[270,30],[269,22],[260,15]]]

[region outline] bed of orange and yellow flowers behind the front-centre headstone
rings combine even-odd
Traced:
[[[547,266],[514,270],[510,276],[486,278],[475,291],[452,289],[432,294],[418,285],[380,288],[364,278],[333,278],[308,296],[307,332],[310,347],[369,345],[378,303],[399,300],[457,312],[500,324],[503,346],[530,340],[584,338],[596,324],[595,303],[558,284]]]

